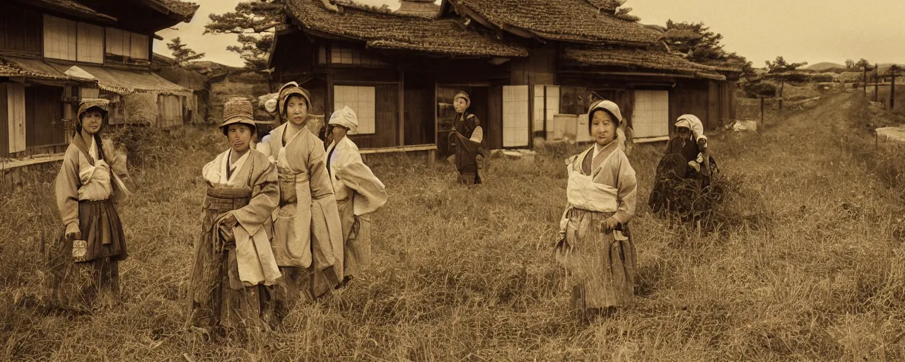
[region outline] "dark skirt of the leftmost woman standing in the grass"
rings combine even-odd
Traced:
[[[50,251],[52,304],[74,310],[111,307],[119,302],[119,261],[126,259],[126,236],[110,200],[79,202],[84,256],[73,258],[75,240],[61,235]]]

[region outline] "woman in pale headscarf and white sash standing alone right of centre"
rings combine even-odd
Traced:
[[[573,278],[573,309],[589,321],[632,303],[636,270],[628,223],[637,183],[623,151],[619,107],[598,100],[587,115],[595,145],[567,160],[568,204],[555,254]]]

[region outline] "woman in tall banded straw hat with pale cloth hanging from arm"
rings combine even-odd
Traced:
[[[191,310],[194,320],[212,327],[261,328],[271,315],[269,286],[281,276],[270,243],[277,171],[251,148],[251,101],[228,100],[220,128],[230,148],[201,171],[207,191],[189,281]]]

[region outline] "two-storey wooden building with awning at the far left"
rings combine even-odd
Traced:
[[[155,32],[196,9],[177,0],[0,1],[0,157],[65,150],[81,98],[110,99],[113,124],[181,124],[191,90],[151,72],[150,54]]]

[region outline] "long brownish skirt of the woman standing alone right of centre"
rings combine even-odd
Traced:
[[[568,213],[565,243],[557,245],[557,261],[569,271],[576,310],[605,309],[632,303],[636,276],[631,233],[616,240],[616,233],[601,231],[613,213],[572,209]]]

